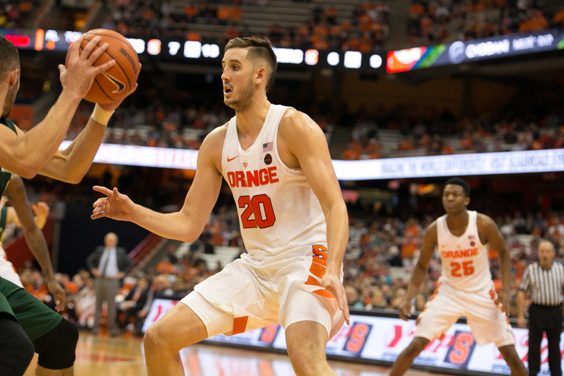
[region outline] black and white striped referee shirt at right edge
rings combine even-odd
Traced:
[[[542,306],[558,306],[562,303],[564,287],[564,266],[552,262],[549,269],[538,263],[528,265],[519,283],[519,290],[531,290],[533,304]]]

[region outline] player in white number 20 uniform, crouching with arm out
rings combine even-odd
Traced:
[[[297,375],[336,375],[325,345],[349,320],[342,262],[347,209],[327,141],[305,113],[271,104],[276,56],[261,38],[225,48],[224,102],[235,117],[208,134],[180,212],[161,214],[127,196],[107,197],[93,219],[132,221],[163,237],[194,242],[219,195],[230,186],[248,255],[196,286],[149,327],[143,343],[148,375],[183,375],[179,350],[216,334],[280,323]]]

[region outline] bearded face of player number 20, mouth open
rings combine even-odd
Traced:
[[[228,49],[221,61],[221,81],[224,83],[224,103],[236,112],[251,107],[255,86],[253,63],[246,58],[247,49]]]

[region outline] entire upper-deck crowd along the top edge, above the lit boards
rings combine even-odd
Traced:
[[[412,0],[407,30],[391,26],[389,0],[362,1],[346,12],[322,1],[300,2],[311,3],[311,10],[301,22],[275,21],[267,32],[249,26],[244,9],[260,6],[267,11],[268,0],[196,0],[187,2],[183,9],[170,0],[111,0],[106,1],[109,11],[100,27],[131,38],[173,38],[224,45],[237,36],[263,34],[276,47],[381,52],[564,26],[564,7],[545,10],[534,0]],[[38,0],[1,1],[0,27],[29,27],[41,4]],[[217,25],[218,31],[198,24]],[[407,33],[408,45],[397,45],[399,33]],[[393,45],[384,46],[387,40],[393,40]]]

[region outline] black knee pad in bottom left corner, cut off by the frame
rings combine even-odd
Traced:
[[[20,376],[33,359],[33,343],[13,319],[0,317],[0,375]]]

